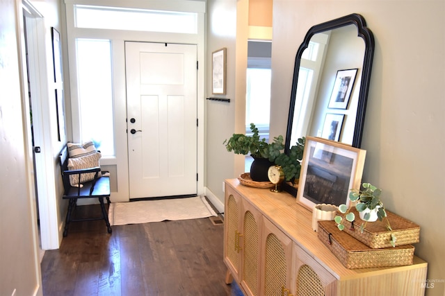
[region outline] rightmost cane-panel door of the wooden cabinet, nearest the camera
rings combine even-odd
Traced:
[[[293,245],[293,290],[296,296],[330,296],[336,294],[337,279],[300,246]]]

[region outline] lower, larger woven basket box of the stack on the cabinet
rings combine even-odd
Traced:
[[[414,257],[412,245],[372,249],[340,231],[334,221],[318,222],[318,238],[350,269],[412,265]]]

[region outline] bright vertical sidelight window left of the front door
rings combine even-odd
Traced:
[[[113,156],[113,81],[110,40],[76,40],[81,140],[95,141],[103,156]]]

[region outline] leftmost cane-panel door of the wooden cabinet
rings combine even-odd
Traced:
[[[239,283],[241,266],[241,196],[230,186],[225,188],[224,261],[232,277]]]

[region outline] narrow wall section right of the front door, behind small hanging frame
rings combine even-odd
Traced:
[[[230,103],[207,100],[204,149],[206,195],[214,198],[211,200],[213,204],[224,204],[223,181],[244,171],[244,158],[227,152],[223,142],[234,132],[245,130],[248,1],[209,0],[207,21],[207,73],[211,73],[211,53],[223,47],[227,49],[227,93],[219,96],[211,94],[208,74],[206,96],[229,98]]]

